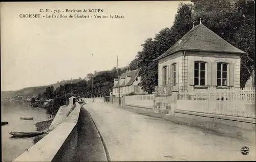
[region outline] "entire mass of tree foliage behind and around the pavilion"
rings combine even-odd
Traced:
[[[138,52],[140,86],[148,93],[158,85],[158,64],[153,60],[174,45],[192,27],[202,23],[230,44],[248,53],[241,59],[241,87],[249,76],[255,84],[254,1],[191,1],[181,3],[170,28],[162,29],[155,38],[148,38]]]

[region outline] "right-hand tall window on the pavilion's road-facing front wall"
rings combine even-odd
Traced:
[[[217,86],[227,86],[227,64],[217,64]]]

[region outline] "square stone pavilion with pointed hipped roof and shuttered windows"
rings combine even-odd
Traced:
[[[246,52],[229,44],[200,20],[199,25],[155,59],[158,61],[156,91],[240,88],[240,58],[244,54]]]

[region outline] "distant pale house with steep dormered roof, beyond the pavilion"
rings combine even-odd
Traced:
[[[141,94],[143,93],[138,83],[140,82],[140,76],[138,76],[139,70],[127,70],[119,77],[120,96],[127,95],[129,93]],[[118,97],[118,79],[114,79],[113,96]]]

